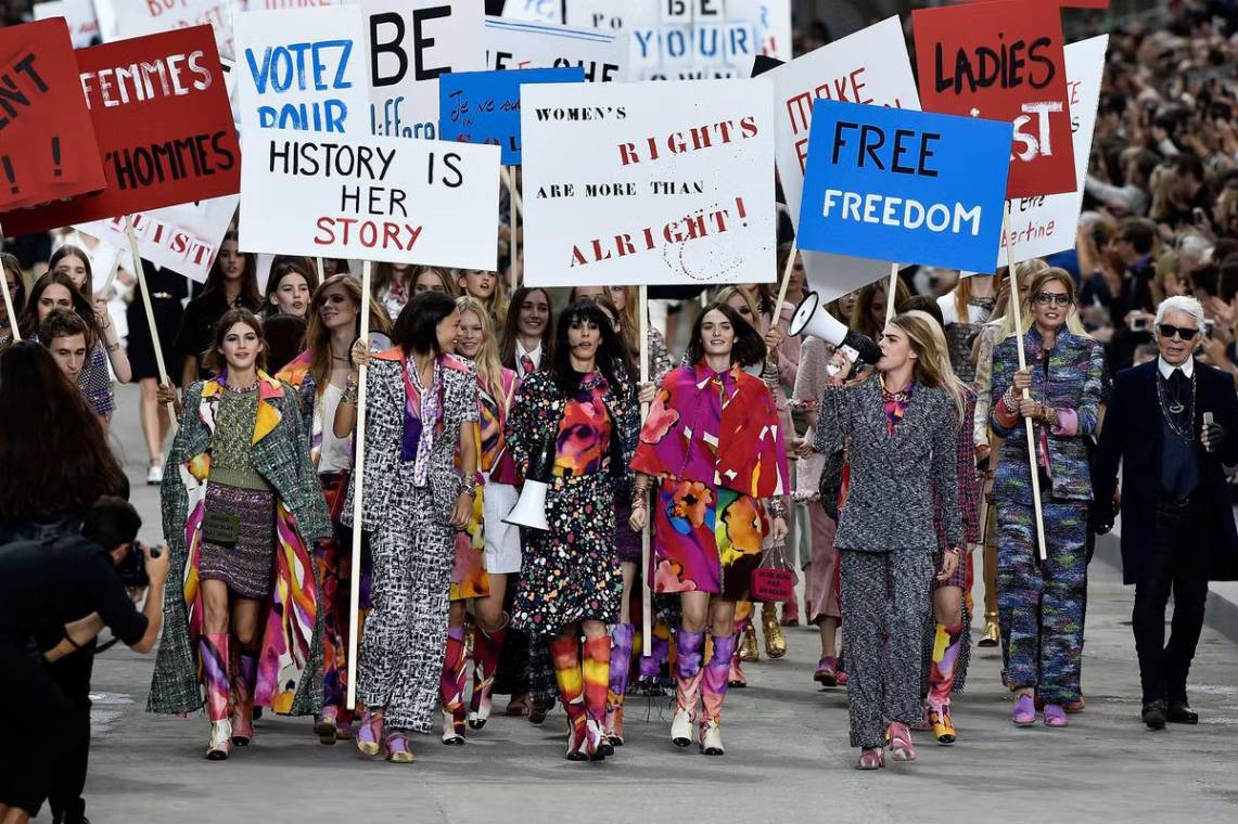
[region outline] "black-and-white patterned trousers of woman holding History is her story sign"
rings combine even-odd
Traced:
[[[417,490],[411,522],[384,523],[370,537],[374,609],[361,638],[358,698],[384,708],[389,730],[430,732],[447,648],[447,591],[456,542],[438,523],[428,490]]]

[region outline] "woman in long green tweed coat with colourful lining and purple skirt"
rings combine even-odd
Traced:
[[[197,710],[206,695],[220,761],[254,737],[254,706],[318,709],[321,625],[310,548],[331,534],[292,388],[264,370],[262,327],[229,309],[186,390],[161,499],[172,569],[147,709]],[[230,718],[229,718],[230,716]]]

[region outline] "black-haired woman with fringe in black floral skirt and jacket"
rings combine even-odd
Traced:
[[[628,433],[639,427],[625,375],[628,348],[610,320],[592,301],[572,303],[558,320],[553,365],[524,379],[505,431],[520,476],[550,485],[551,528],[525,532],[511,621],[534,643],[550,637],[569,761],[613,752],[605,737],[607,625],[618,620],[623,593],[614,496],[630,458]]]

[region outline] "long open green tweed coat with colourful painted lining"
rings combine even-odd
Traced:
[[[163,596],[163,638],[147,700],[151,713],[189,713],[202,706],[196,643],[202,625],[197,558],[210,439],[224,380],[225,375],[220,375],[193,384],[186,392],[181,428],[160,489],[172,575]],[[331,521],[292,387],[259,372],[259,391],[250,455],[254,468],[275,491],[280,538],[255,699],[281,714],[306,715],[322,704],[323,625],[308,548],[331,537]]]

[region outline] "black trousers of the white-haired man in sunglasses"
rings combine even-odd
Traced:
[[[1186,676],[1203,630],[1208,598],[1208,541],[1213,521],[1202,494],[1186,501],[1156,502],[1156,558],[1144,580],[1135,584],[1132,626],[1139,656],[1144,703],[1186,700]],[[1174,617],[1165,642],[1165,606],[1174,595]]]

